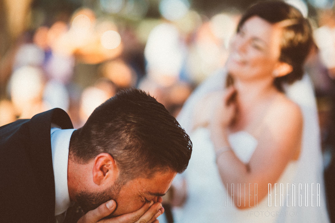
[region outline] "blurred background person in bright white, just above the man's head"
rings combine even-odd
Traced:
[[[163,20],[150,31],[144,49],[147,75],[138,87],[154,95],[174,117],[193,90],[191,78],[184,74],[187,53],[176,23]]]

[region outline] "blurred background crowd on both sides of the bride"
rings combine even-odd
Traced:
[[[318,100],[325,151],[334,145],[335,10],[333,1],[289,0],[313,24],[316,46],[306,63]],[[86,1],[87,3],[87,1]],[[80,127],[121,89],[148,91],[177,116],[192,90],[225,64],[242,10],[203,14],[187,0],[83,1],[52,23],[43,8],[15,42],[4,70],[0,126],[59,107]],[[308,4],[307,4],[308,3]],[[89,5],[89,4],[87,4]],[[309,10],[313,9],[313,13]],[[327,160],[326,160],[327,163]]]

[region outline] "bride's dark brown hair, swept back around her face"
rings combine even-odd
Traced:
[[[262,1],[247,9],[237,26],[237,32],[253,16],[272,24],[285,21],[282,23],[279,60],[291,65],[293,71],[275,79],[275,86],[282,91],[282,83],[291,84],[303,77],[304,62],[314,44],[311,25],[298,9],[283,1]]]

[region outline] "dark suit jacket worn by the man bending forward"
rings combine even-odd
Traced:
[[[0,222],[54,222],[50,125],[73,128],[55,108],[0,127]]]

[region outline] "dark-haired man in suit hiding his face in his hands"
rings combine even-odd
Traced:
[[[81,223],[157,222],[160,196],[191,152],[176,119],[136,89],[77,130],[61,109],[17,120],[0,127],[0,222],[63,222],[74,202],[87,212]]]

